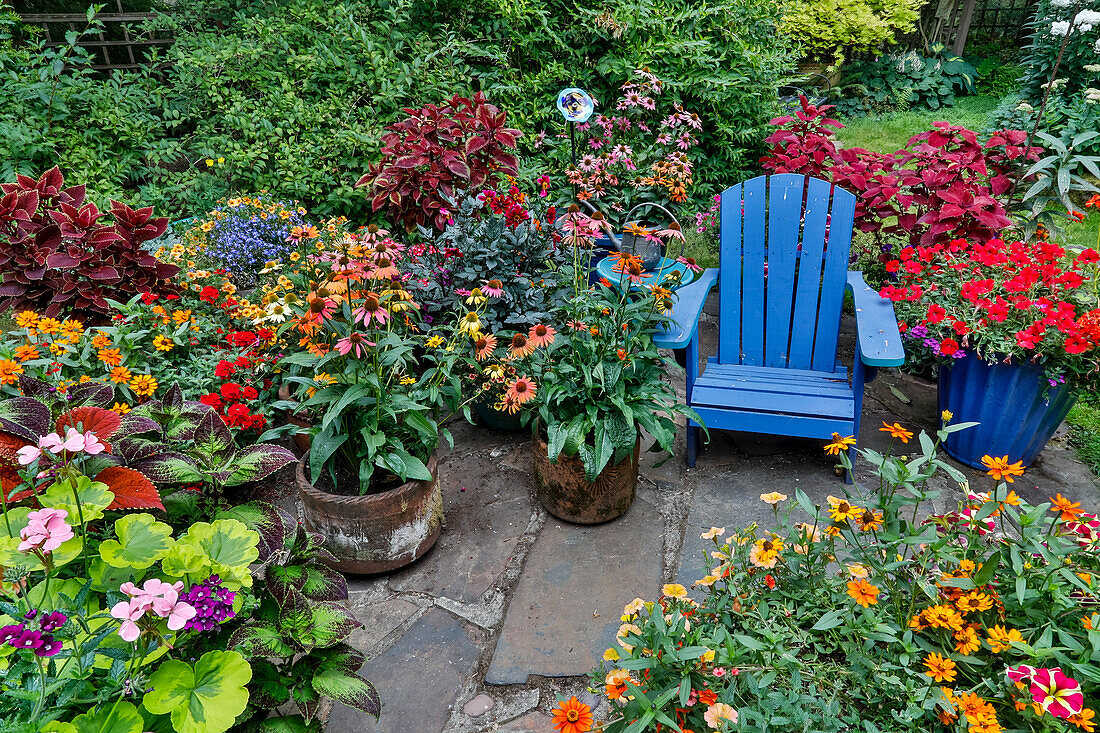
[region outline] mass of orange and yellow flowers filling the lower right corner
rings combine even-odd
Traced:
[[[987,457],[999,483],[968,483],[938,451],[966,428],[921,434],[912,457],[860,450],[873,488],[827,505],[762,494],[773,532],[703,533],[696,592],[669,583],[627,604],[592,671],[607,733],[1092,727],[1100,519],[1060,494],[1023,501],[1019,463]],[[848,464],[849,441],[826,450]],[[963,499],[924,518],[947,499],[931,488],[944,472]]]

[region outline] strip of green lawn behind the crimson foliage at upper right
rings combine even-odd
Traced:
[[[989,114],[1001,103],[1000,97],[960,97],[955,107],[937,110],[911,110],[887,112],[840,119],[844,129],[836,133],[844,147],[865,147],[876,153],[892,153],[905,146],[909,139],[919,132],[932,129],[933,122],[950,122],[981,132],[989,121]]]

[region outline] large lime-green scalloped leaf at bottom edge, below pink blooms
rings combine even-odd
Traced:
[[[237,652],[207,652],[194,667],[170,659],[150,677],[153,691],[144,705],[169,713],[177,733],[222,733],[249,703],[251,679],[252,668]]]

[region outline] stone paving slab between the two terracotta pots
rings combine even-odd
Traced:
[[[440,464],[443,532],[430,553],[391,576],[391,588],[472,603],[504,571],[536,511],[534,484],[483,452],[455,452]]]

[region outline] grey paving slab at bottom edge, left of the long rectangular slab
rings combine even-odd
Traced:
[[[451,614],[431,609],[389,649],[363,665],[361,674],[382,696],[377,723],[337,705],[328,730],[346,733],[436,733],[442,731],[459,689],[474,674],[481,634]]]

